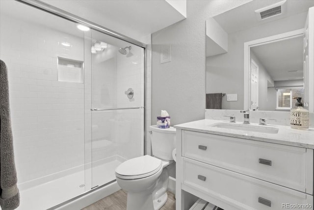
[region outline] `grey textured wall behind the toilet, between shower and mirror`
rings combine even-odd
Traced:
[[[171,124],[204,119],[206,19],[247,1],[187,1],[187,18],[152,34],[152,124],[167,110]],[[160,64],[160,47],[172,61]]]

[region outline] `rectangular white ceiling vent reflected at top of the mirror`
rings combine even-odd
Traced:
[[[258,20],[265,20],[270,17],[282,15],[287,11],[287,0],[266,6],[262,9],[255,10]]]

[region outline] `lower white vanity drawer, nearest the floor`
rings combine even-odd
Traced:
[[[235,210],[280,210],[283,204],[309,204],[299,209],[313,210],[312,195],[189,158],[183,158],[182,189],[195,189],[202,199],[217,199]]]

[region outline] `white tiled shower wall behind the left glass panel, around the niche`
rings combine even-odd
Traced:
[[[4,14],[0,25],[19,183],[82,165],[84,84],[57,81],[57,56],[84,60],[83,33],[74,36]]]

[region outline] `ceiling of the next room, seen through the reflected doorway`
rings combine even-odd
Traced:
[[[251,47],[274,81],[303,79],[303,37]]]

